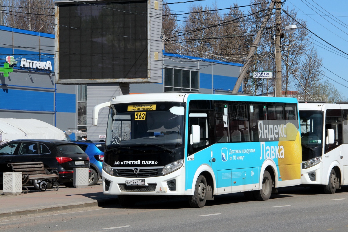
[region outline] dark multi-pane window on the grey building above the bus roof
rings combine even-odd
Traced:
[[[199,91],[198,71],[164,68],[164,91]]]

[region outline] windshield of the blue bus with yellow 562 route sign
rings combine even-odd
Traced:
[[[183,143],[185,104],[115,104],[110,107],[106,146]]]

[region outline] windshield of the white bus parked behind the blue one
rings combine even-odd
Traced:
[[[319,157],[323,149],[323,112],[300,110],[302,161]]]

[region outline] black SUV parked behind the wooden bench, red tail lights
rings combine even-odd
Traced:
[[[74,168],[89,168],[88,155],[77,144],[69,141],[23,139],[0,145],[1,177],[3,172],[11,171],[7,163],[34,161],[41,161],[46,168],[57,168],[58,182],[67,187],[73,186]],[[35,183],[33,185],[35,187]]]

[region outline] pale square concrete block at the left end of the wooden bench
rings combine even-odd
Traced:
[[[22,173],[11,171],[3,173],[3,194],[17,195],[22,193]]]

